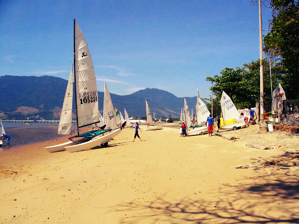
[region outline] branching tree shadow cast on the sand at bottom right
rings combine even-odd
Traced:
[[[120,223],[202,223],[278,224],[299,223],[298,169],[267,167],[254,177],[243,177],[238,184],[225,184],[209,191],[207,197],[194,193],[172,199],[164,194],[153,201],[133,200],[110,209],[126,212]],[[142,201],[142,202],[141,202]]]

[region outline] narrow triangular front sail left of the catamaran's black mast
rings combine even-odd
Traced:
[[[72,132],[73,108],[73,66],[66,87],[57,134],[70,134]]]

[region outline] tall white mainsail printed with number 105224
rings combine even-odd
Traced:
[[[75,81],[78,127],[98,123],[99,104],[95,70],[84,35],[75,22]]]

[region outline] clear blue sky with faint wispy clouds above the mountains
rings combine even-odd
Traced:
[[[268,29],[271,9],[262,10]],[[250,0],[0,0],[0,76],[67,80],[74,18],[101,92],[106,82],[119,95],[198,89],[209,98],[206,77],[259,59],[259,7]]]

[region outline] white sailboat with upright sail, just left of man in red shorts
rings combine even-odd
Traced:
[[[210,112],[207,109],[207,106],[205,105],[205,103],[203,103],[203,101],[200,99],[198,89],[197,89],[197,103],[196,103],[195,109],[196,109],[196,114],[197,114],[197,126],[198,127],[187,131],[187,136],[197,135],[197,134],[203,135],[204,132],[208,131],[208,126],[206,126],[206,125],[203,126],[203,124],[207,120],[207,117],[210,115]]]

